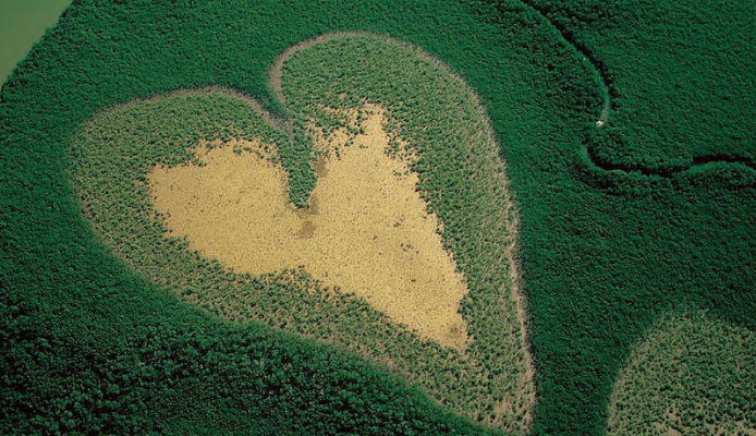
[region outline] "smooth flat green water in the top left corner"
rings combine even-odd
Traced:
[[[71,0],[0,0],[0,83]]]

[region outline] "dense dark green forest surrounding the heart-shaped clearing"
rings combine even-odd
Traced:
[[[216,85],[284,117],[277,57],[362,31],[422,47],[479,95],[521,215],[532,433],[605,434],[615,378],[668,313],[756,329],[753,12],[75,1],[0,93],[0,433],[496,433],[352,352],[186,305],[102,243],[69,182],[72,142],[98,113]]]

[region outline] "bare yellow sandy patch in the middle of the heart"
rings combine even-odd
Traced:
[[[156,167],[155,206],[170,233],[204,256],[253,275],[304,266],[422,337],[464,350],[464,277],[416,191],[417,174],[407,159],[387,155],[382,110],[366,113],[350,146],[344,132],[336,142],[315,135],[319,148],[340,153],[318,164],[309,210],[289,203],[280,167],[231,145],[198,153],[204,166]]]

